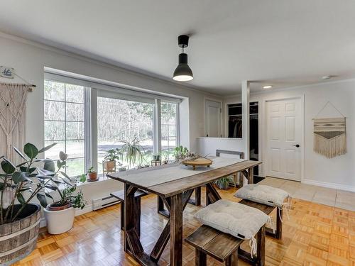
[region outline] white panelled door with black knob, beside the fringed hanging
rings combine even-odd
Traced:
[[[301,99],[266,102],[266,175],[301,180]]]

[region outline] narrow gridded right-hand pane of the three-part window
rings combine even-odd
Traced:
[[[173,159],[178,145],[178,104],[161,102],[161,150],[167,160]],[[164,159],[164,158],[163,158]]]

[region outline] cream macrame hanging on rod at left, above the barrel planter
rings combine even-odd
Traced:
[[[0,155],[17,162],[13,146],[25,142],[26,99],[31,84],[0,82]]]

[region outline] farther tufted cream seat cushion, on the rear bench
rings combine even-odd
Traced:
[[[240,199],[249,199],[268,206],[283,206],[285,199],[290,196],[283,189],[265,186],[263,184],[247,184],[238,189],[234,196]]]

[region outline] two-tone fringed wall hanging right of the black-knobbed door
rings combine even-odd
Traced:
[[[317,118],[324,108],[330,104],[342,117]],[[314,148],[316,153],[327,158],[346,153],[346,117],[330,101],[317,113],[314,121]]]

